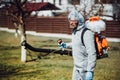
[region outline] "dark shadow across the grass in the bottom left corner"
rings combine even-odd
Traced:
[[[48,71],[46,70],[36,70],[36,69],[27,69],[24,68],[25,66],[19,67],[19,66],[12,66],[12,65],[6,65],[0,63],[0,79],[9,80],[10,78],[13,79],[13,77],[17,80],[17,78],[30,78],[33,75],[37,74],[46,74]],[[21,77],[22,76],[22,77]]]

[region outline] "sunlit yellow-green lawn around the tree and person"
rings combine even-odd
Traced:
[[[58,49],[57,39],[27,35],[28,43],[38,48]],[[109,57],[97,60],[94,80],[120,80],[120,43],[109,44]],[[51,53],[38,59],[39,53],[30,51],[36,60],[27,56],[28,62],[23,63],[20,51],[20,36],[0,31],[0,80],[71,80],[71,56]]]

